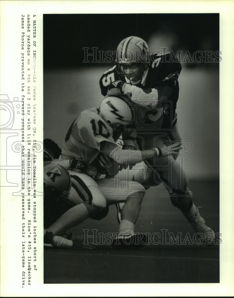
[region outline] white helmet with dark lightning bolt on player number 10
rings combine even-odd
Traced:
[[[131,125],[134,121],[133,105],[124,96],[107,96],[100,104],[99,114],[111,127]]]

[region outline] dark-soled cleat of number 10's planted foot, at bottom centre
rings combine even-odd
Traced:
[[[137,233],[137,234],[125,234],[118,235],[111,246],[113,249],[140,249],[148,243],[148,238],[146,234]]]

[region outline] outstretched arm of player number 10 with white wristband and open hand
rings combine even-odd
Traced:
[[[114,159],[118,164],[126,164],[126,158],[128,158],[128,164],[137,164],[147,159],[154,157],[168,156],[169,154],[177,155],[177,150],[180,149],[180,143],[174,143],[171,145],[171,150],[161,150],[160,148],[152,148],[149,150],[125,150],[120,148],[115,142],[102,141],[100,143],[100,151],[110,158]]]

